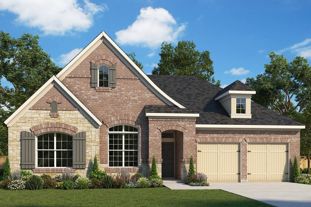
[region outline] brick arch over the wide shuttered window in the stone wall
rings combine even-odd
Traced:
[[[30,128],[30,131],[35,135],[47,133],[47,132],[62,132],[70,135],[74,135],[77,133],[78,128],[71,126],[69,124],[61,124],[61,123],[46,123],[39,124]]]

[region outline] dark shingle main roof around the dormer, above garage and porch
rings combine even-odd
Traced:
[[[148,77],[189,112],[199,113],[200,117],[197,118],[196,124],[303,125],[254,102],[251,103],[251,119],[232,119],[225,108],[214,99],[216,94],[223,90],[222,88],[194,76],[148,75]],[[179,110],[172,106],[149,107],[146,107],[149,112],[189,113],[179,112],[183,109]],[[170,107],[173,110],[170,111]]]

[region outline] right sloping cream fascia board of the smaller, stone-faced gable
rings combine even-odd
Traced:
[[[78,106],[81,107],[82,110],[86,113],[86,115],[90,116],[94,124],[97,124],[98,127],[100,127],[103,123],[55,76],[52,77],[53,80],[59,85],[60,88],[62,89],[65,94],[67,93],[68,96],[77,103]]]

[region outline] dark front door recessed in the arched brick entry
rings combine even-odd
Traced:
[[[174,142],[162,142],[162,177],[174,176]]]

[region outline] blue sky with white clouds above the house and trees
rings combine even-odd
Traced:
[[[101,31],[151,74],[163,41],[193,41],[210,52],[221,87],[264,72],[269,52],[311,60],[311,1],[0,0],[0,30],[39,34],[65,66]],[[5,84],[5,80],[1,80]],[[9,85],[9,84],[8,84]]]

